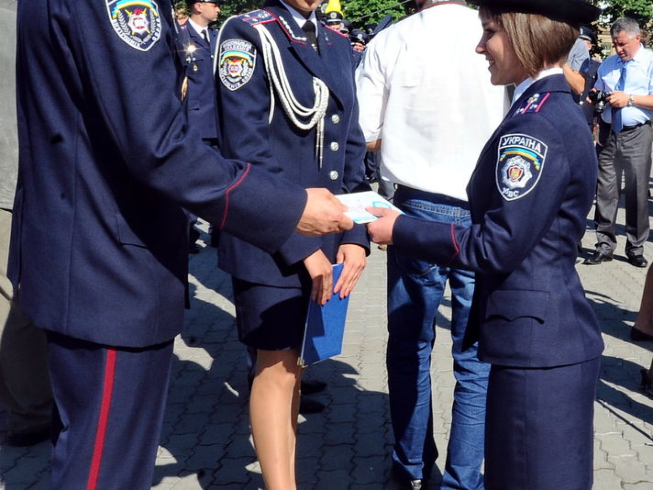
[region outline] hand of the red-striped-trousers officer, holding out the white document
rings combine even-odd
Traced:
[[[308,237],[326,233],[350,230],[354,226],[351,218],[343,213],[347,206],[342,204],[327,189],[306,189],[308,200],[296,231]]]

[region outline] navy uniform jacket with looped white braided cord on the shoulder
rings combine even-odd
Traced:
[[[278,46],[289,86],[300,104],[313,106],[313,76],[327,84],[321,167],[315,128],[298,129],[276,93],[271,104],[270,80],[256,25],[264,25]],[[264,10],[232,18],[223,25],[215,74],[219,147],[228,157],[255,161],[265,171],[305,188],[325,187],[334,194],[368,190],[363,164],[366,146],[358,126],[349,41],[322,26],[317,37],[320,54],[306,42],[303,31],[278,1],[268,1]],[[279,192],[276,208],[288,205],[285,195]],[[299,286],[298,273],[305,270],[302,259],[321,248],[334,261],[341,241],[368,246],[362,226],[328,237],[295,234],[272,255],[221,234],[218,264],[242,280],[268,286]]]

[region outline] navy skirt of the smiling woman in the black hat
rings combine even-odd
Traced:
[[[601,359],[552,368],[492,365],[486,490],[590,490]]]

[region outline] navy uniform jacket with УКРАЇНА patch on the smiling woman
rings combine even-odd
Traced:
[[[603,342],[575,270],[596,152],[562,75],[535,82],[488,140],[468,186],[470,228],[400,216],[397,250],[475,270],[470,316],[483,361],[552,367]]]

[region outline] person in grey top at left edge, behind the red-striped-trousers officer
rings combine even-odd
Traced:
[[[7,444],[32,446],[50,436],[52,390],[45,333],[20,311],[7,278],[12,207],[18,174],[14,97],[16,0],[0,0],[0,402],[7,411]]]

